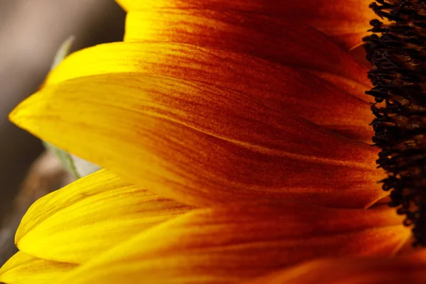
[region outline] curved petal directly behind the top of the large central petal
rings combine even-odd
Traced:
[[[84,68],[82,68],[84,66]],[[112,43],[70,55],[45,85],[114,72],[206,82],[261,99],[350,138],[371,142],[370,105],[293,67],[249,55],[179,43]]]

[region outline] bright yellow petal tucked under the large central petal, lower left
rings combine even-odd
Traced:
[[[16,232],[16,244],[32,256],[82,263],[189,210],[100,170],[35,202]]]

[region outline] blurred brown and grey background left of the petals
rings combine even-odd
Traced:
[[[28,206],[72,180],[7,116],[37,90],[66,38],[75,35],[72,50],[119,41],[124,17],[114,0],[0,0],[0,266],[15,251],[13,234]]]

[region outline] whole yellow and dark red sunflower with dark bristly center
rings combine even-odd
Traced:
[[[10,116],[104,169],[28,209],[1,281],[426,280],[405,246],[425,235],[421,1],[119,4],[124,42],[70,55]],[[367,77],[348,50],[370,24]]]

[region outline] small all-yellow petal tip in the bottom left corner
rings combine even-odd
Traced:
[[[6,284],[55,283],[76,267],[76,264],[46,261],[19,251],[0,268],[0,282]]]

